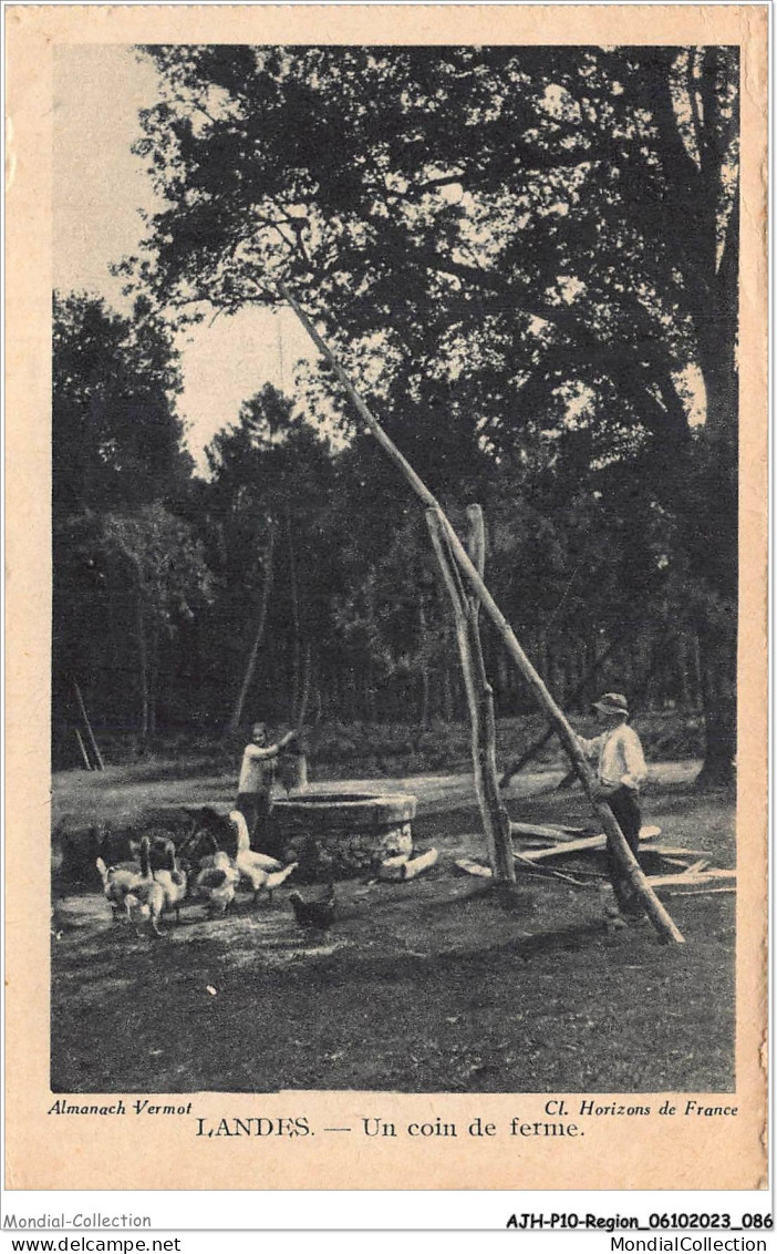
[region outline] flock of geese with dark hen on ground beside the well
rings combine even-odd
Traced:
[[[300,864],[292,861],[284,867],[277,858],[252,849],[248,825],[239,810],[232,810],[229,821],[237,831],[234,858],[219,849],[211,834],[203,835],[211,851],[192,860],[179,855],[173,841],[164,836],[143,836],[137,859],[108,867],[98,858],[96,869],[114,918],[129,919],[138,932],[150,928],[155,935],[162,935],[162,917],[174,912],[180,922],[180,907],[187,899],[204,902],[211,917],[223,915],[234,902],[241,883],[247,882],[254,904],[262,892],[272,900],[273,889],[279,888]],[[184,853],[190,846],[192,841],[187,841]],[[332,889],[320,902],[305,902],[300,893],[291,893],[289,903],[302,928],[326,930],[333,920]]]

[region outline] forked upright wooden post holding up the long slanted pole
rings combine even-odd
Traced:
[[[482,513],[477,505],[471,507],[477,510],[470,514],[469,547],[472,561],[482,572],[485,561],[485,544],[482,533]],[[510,819],[504,810],[496,780],[496,722],[494,719],[494,693],[486,678],[480,647],[479,631],[479,602],[475,597],[466,596],[461,584],[455,563],[449,556],[446,537],[440,525],[437,512],[426,512],[426,523],[431,537],[432,547],[437,557],[442,581],[447,589],[454,609],[454,624],[456,628],[456,642],[461,658],[461,672],[464,676],[464,690],[470,711],[470,725],[472,730],[472,774],[475,777],[475,793],[482,819],[482,830],[486,838],[489,861],[494,872],[496,883],[515,883],[515,859],[513,856],[513,840],[510,835]]]

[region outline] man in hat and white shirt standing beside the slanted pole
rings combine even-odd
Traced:
[[[600,736],[585,740],[578,736],[587,757],[597,760],[597,794],[607,801],[618,820],[634,856],[639,849],[639,789],[648,777],[642,742],[628,725],[629,707],[620,692],[605,692],[594,701],[599,722],[605,725]],[[630,880],[620,872],[619,863],[608,845],[608,869],[620,913],[627,918],[639,918],[643,907]]]

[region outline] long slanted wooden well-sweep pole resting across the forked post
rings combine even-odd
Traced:
[[[679,930],[679,928],[669,915],[668,910],[662,905],[655,893],[648,884],[644,873],[639,863],[637,861],[637,858],[629,849],[625,836],[623,835],[623,831],[618,826],[615,815],[610,810],[607,801],[599,798],[595,775],[590,769],[588,761],[585,760],[578,737],[575,736],[570,724],[568,722],[564,711],[560,709],[560,706],[556,705],[550,692],[545,687],[541,676],[535,671],[534,666],[524,653],[515,636],[515,632],[510,627],[510,623],[508,622],[501,609],[494,601],[494,597],[491,596],[485,583],[480,578],[475,566],[470,561],[466,549],[464,548],[461,540],[456,535],[456,532],[454,530],[454,527],[451,525],[449,518],[445,515],[440,503],[429,490],[424,480],[419,478],[419,475],[412,469],[412,466],[404,456],[404,454],[400,453],[394,440],[386,434],[386,431],[383,431],[377,419],[367,409],[367,405],[365,404],[360,394],[356,391],[356,387],[348,379],[346,371],[340,365],[337,357],[333,355],[333,352],[325,342],[325,340],[320,336],[318,331],[310,321],[307,315],[303,312],[303,310],[300,307],[300,305],[291,295],[291,292],[283,285],[278,285],[278,291],[283,297],[283,300],[288,301],[288,303],[291,305],[297,317],[302,322],[303,327],[306,329],[313,344],[318,347],[318,350],[323,354],[326,360],[332,366],[332,370],[335,371],[337,379],[342,384],[347,395],[353,401],[356,410],[358,411],[360,416],[362,418],[363,423],[372,433],[377,443],[381,445],[381,448],[391,459],[391,461],[394,461],[394,464],[397,466],[401,474],[405,477],[405,479],[407,480],[415,494],[419,497],[419,499],[426,505],[427,509],[434,509],[435,513],[437,514],[440,528],[446,537],[446,540],[451,548],[454,557],[456,558],[456,562],[459,563],[461,573],[470,584],[474,594],[480,601],[489,618],[496,627],[496,631],[499,632],[504,642],[504,646],[508,650],[508,653],[510,655],[510,657],[518,666],[519,671],[521,672],[524,680],[534,692],[540,707],[543,707],[548,712],[548,716],[555,727],[556,735],[559,736],[559,740],[561,741],[561,745],[564,746],[569,756],[569,760],[574,766],[578,777],[580,779],[580,782],[583,784],[583,788],[588,794],[588,798],[594,808],[597,818],[599,819],[602,828],[607,834],[607,839],[610,844],[610,848],[613,849],[614,855],[617,856],[620,864],[623,874],[633,884],[635,893],[642,899],[644,908],[659,935],[667,940],[673,940],[677,944],[682,944],[684,940],[682,932]]]

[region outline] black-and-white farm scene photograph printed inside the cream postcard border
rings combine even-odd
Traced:
[[[733,1091],[737,49],[54,87],[54,1091]]]

